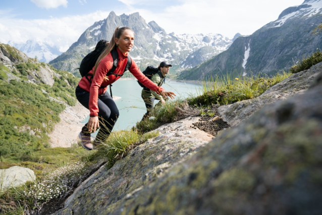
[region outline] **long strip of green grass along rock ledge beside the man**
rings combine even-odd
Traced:
[[[227,75],[225,78],[204,80],[198,96],[190,96],[186,100],[167,101],[166,105],[153,109],[150,119],[137,122],[136,129],[140,133],[149,132],[160,125],[180,119],[180,115],[184,115],[185,111],[189,115],[193,109],[200,109],[201,112],[203,108],[213,104],[226,105],[257,97],[290,75],[291,73],[286,72],[278,73],[271,78],[259,75],[231,78]]]

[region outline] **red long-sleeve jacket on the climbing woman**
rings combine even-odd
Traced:
[[[121,75],[124,72],[128,59],[127,59],[127,53],[126,55],[124,55],[124,53],[122,53],[122,51],[120,51],[119,48],[117,48],[117,50],[119,53],[118,66],[116,67],[114,73]],[[89,112],[90,112],[89,116],[91,117],[98,116],[98,106],[97,106],[98,95],[103,94],[107,89],[107,87],[105,88],[100,88],[100,87],[113,84],[115,81],[117,81],[120,78],[120,76],[109,75],[108,76],[109,80],[104,80],[104,77],[112,69],[112,67],[113,67],[113,58],[111,53],[109,53],[109,55],[107,55],[99,62],[95,72],[95,76],[92,79],[91,83],[86,79],[85,76],[78,83],[80,88],[89,92],[88,104],[89,104]],[[129,71],[135,76],[135,78],[137,78],[147,88],[157,92],[158,94],[161,91],[164,91],[162,87],[157,86],[145,75],[143,75],[143,73],[140,71],[140,69],[137,67],[136,63],[133,60],[132,60],[131,67],[129,68]],[[94,68],[88,74],[92,75],[93,72],[94,72]],[[87,76],[87,78],[90,79],[90,76]]]

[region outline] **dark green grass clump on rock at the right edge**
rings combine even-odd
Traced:
[[[322,62],[322,52],[320,50],[317,50],[314,53],[312,53],[311,56],[308,56],[306,58],[303,57],[302,60],[299,60],[297,64],[291,67],[290,72],[298,73],[303,70],[307,70],[320,62]]]

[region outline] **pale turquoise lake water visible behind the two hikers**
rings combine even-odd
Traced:
[[[201,86],[166,80],[162,87],[167,91],[174,92],[177,95],[176,98],[185,98],[189,95],[197,95]],[[118,80],[113,84],[113,95],[121,97],[121,99],[115,101],[120,117],[113,131],[130,129],[137,121],[142,119],[146,113],[146,108],[141,98],[141,91],[142,87],[139,86],[136,80]],[[108,88],[108,92],[110,93],[110,88]],[[155,100],[154,104],[157,102],[158,100]],[[87,123],[88,119],[89,116],[82,123]],[[93,133],[92,136],[96,136],[96,134]]]

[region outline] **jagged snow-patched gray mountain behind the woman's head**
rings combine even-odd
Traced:
[[[77,42],[50,64],[73,72],[100,39],[110,40],[118,26],[128,26],[135,32],[135,44],[130,55],[141,69],[165,60],[173,64],[174,71],[192,68],[218,55],[232,43],[221,34],[168,34],[154,21],[146,23],[139,13],[117,16],[112,11],[108,18],[87,28]]]

